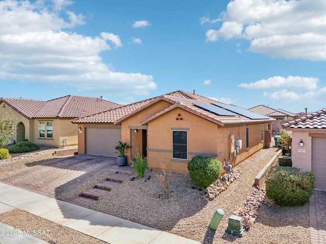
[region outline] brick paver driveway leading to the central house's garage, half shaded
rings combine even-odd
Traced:
[[[58,198],[83,185],[101,172],[114,168],[114,157],[87,154],[60,158],[47,165],[36,165],[22,173],[3,179],[6,184]]]

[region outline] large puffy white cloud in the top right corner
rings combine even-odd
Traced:
[[[207,41],[242,38],[249,50],[278,58],[326,60],[326,1],[234,0]],[[201,23],[209,22],[208,17]]]

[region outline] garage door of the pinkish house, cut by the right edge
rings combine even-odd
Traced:
[[[312,170],[315,188],[326,191],[326,138],[312,138]]]

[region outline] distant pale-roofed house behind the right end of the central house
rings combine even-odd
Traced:
[[[274,109],[265,105],[259,105],[248,110],[265,116],[276,118],[277,120],[293,120],[299,117],[297,114],[285,111],[283,109]]]

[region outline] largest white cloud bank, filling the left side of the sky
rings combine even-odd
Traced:
[[[151,75],[115,72],[99,53],[109,43],[121,47],[119,36],[101,33],[89,37],[63,29],[83,24],[83,16],[65,11],[70,1],[54,1],[53,12],[42,1],[0,2],[0,80],[18,79],[106,94],[146,95],[156,89]],[[91,85],[90,85],[91,84]]]

